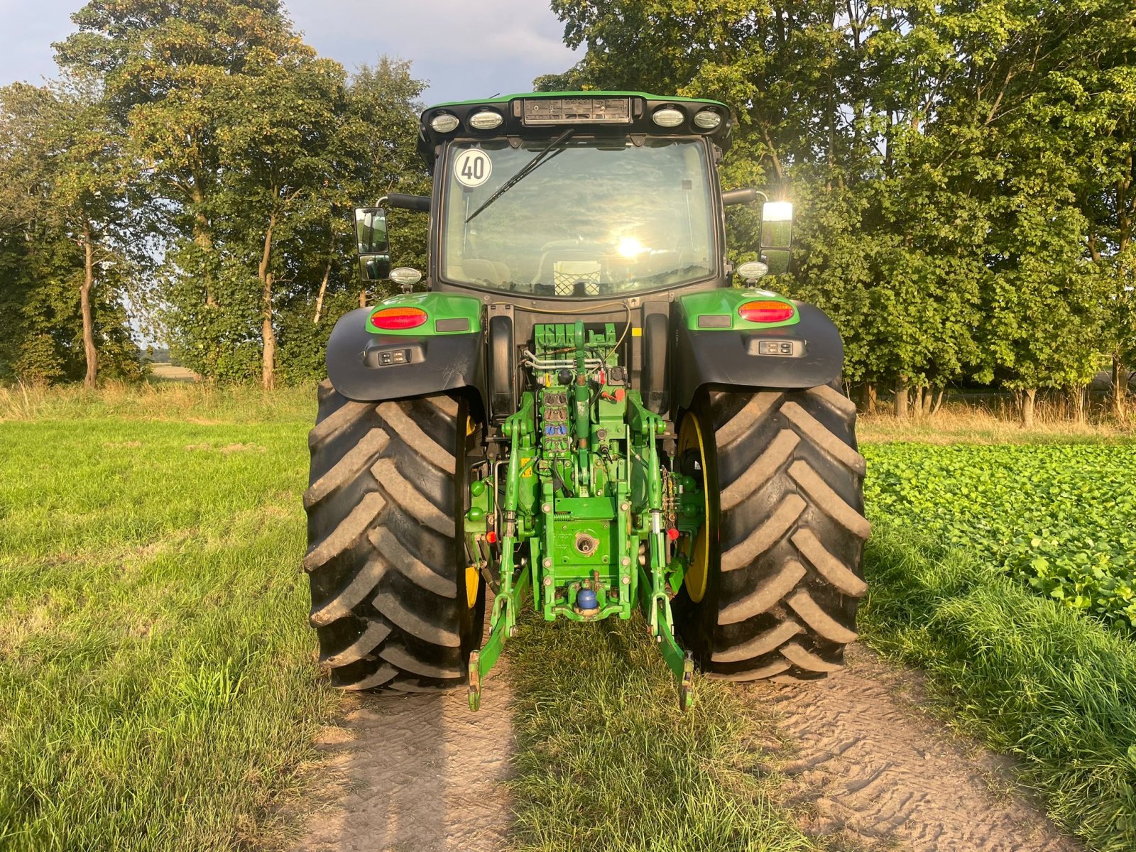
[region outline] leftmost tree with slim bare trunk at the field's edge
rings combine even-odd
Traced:
[[[136,377],[122,304],[131,268],[118,239],[120,139],[98,92],[75,80],[0,90],[0,152],[5,371],[51,381],[82,365],[93,386],[101,352],[112,375]]]

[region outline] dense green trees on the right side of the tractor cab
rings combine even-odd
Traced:
[[[717,98],[732,186],[796,204],[774,285],[841,327],[866,408],[950,383],[1039,389],[1136,356],[1136,9],[1129,0],[552,0],[585,47],[546,90]],[[752,215],[732,244],[757,244]],[[744,257],[753,257],[752,253]]]

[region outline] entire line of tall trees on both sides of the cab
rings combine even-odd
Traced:
[[[544,90],[717,98],[728,186],[797,211],[774,285],[819,304],[866,408],[997,383],[1031,416],[1136,360],[1136,12],[1127,0],[552,0],[584,58]],[[0,378],[130,378],[140,329],[220,381],[307,381],[375,298],[350,209],[423,192],[424,84],[349,74],[276,0],[91,2],[60,75],[0,90]],[[470,93],[476,94],[476,93]],[[755,214],[732,209],[735,260]],[[425,227],[392,215],[395,262]],[[143,328],[144,326],[144,328]]]

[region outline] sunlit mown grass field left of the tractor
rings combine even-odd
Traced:
[[[37,404],[0,424],[0,847],[270,836],[340,708],[302,618],[310,401]]]

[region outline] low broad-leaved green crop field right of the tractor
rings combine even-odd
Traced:
[[[880,444],[866,501],[1038,593],[1136,628],[1136,444]]]

